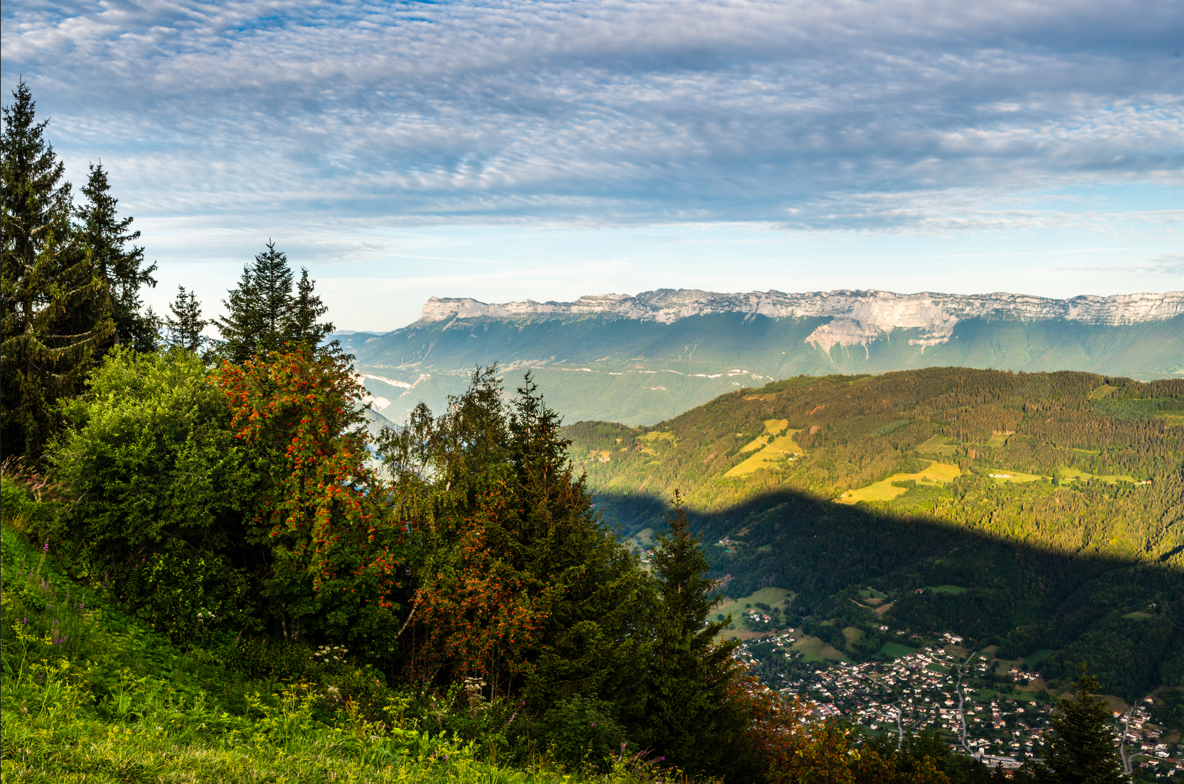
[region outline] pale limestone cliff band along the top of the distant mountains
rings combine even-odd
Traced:
[[[614,314],[624,319],[673,323],[712,313],[744,313],[773,319],[830,316],[806,338],[823,351],[832,346],[867,346],[897,327],[919,328],[910,345],[924,351],[950,340],[954,324],[966,319],[1043,321],[1064,320],[1090,324],[1124,326],[1166,321],[1184,314],[1184,291],[1115,294],[1051,300],[1024,294],[893,294],[875,290],[753,291],[715,294],[697,289],[657,289],[637,296],[601,294],[575,302],[506,302],[487,304],[471,298],[432,297],[419,323],[451,319],[562,319]]]

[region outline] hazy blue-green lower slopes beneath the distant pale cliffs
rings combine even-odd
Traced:
[[[867,347],[828,354],[805,339],[829,319],[746,320],[713,314],[670,324],[619,317],[471,320],[412,324],[374,339],[345,338],[359,369],[411,390],[367,379],[392,401],[398,419],[417,401],[439,410],[463,388],[475,365],[497,361],[516,380],[534,367],[551,404],[567,422],[654,423],[736,386],[798,374],[883,373],[934,366],[1014,371],[1079,369],[1134,378],[1184,373],[1178,347],[1184,316],[1127,327],[1075,322],[983,321],[957,324],[946,343],[921,349],[916,329],[896,329]],[[587,371],[578,368],[588,368]],[[745,373],[729,374],[729,371]],[[716,378],[709,378],[715,375]]]

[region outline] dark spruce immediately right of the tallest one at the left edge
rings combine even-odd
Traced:
[[[91,163],[90,178],[82,193],[86,204],[76,212],[81,225],[78,234],[91,256],[109,297],[109,308],[115,322],[115,340],[129,343],[136,351],[153,351],[157,342],[160,324],[152,313],[141,313],[143,302],[140,289],[155,287],[156,264],[144,266],[144,249],[128,243],[140,239],[140,232],[129,232],[131,218],[116,214],[118,201],[110,193],[110,184],[103,163]]]

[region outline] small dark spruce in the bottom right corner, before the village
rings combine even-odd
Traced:
[[[1041,784],[1122,784],[1122,760],[1109,728],[1106,700],[1095,696],[1098,679],[1086,671],[1073,682],[1073,696],[1061,700],[1049,725],[1048,746],[1034,766]]]

